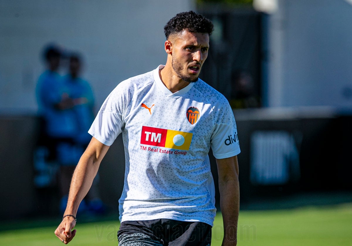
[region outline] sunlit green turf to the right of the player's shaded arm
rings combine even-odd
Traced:
[[[239,245],[352,245],[352,204],[240,214]]]

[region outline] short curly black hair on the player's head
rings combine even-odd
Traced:
[[[194,11],[181,12],[166,23],[164,27],[165,37],[169,39],[170,35],[182,32],[183,30],[211,35],[214,25],[212,21]]]

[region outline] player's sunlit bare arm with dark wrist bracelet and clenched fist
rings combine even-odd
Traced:
[[[76,216],[78,206],[92,186],[100,162],[108,149],[109,146],[102,144],[94,137],[92,138],[86,151],[82,154],[72,176],[67,207],[64,215],[69,214]],[[68,244],[76,234],[76,230],[71,232],[76,225],[73,216],[66,216],[55,230],[56,237],[61,241],[63,240],[64,244]]]

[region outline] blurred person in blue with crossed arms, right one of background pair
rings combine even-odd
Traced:
[[[57,144],[57,158],[60,164],[58,176],[61,192],[60,211],[62,212],[67,205],[73,171],[92,138],[87,131],[94,120],[94,95],[89,83],[80,77],[81,63],[78,53],[70,55],[69,73],[62,78],[59,88],[62,99],[58,103],[57,110],[71,119],[72,125],[71,130],[66,132],[66,138]],[[104,211],[97,182],[98,177],[90,187],[86,199],[81,202],[80,212],[102,213]]]

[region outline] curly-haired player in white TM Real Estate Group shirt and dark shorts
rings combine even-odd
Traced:
[[[219,173],[223,245],[237,244],[236,124],[225,97],[198,79],[213,24],[190,11],[177,14],[164,31],[165,66],[121,82],[89,130],[93,138],[75,170],[55,231],[65,244],[76,234],[71,229],[78,205],[121,132],[126,171],[119,200],[120,246],[210,245],[216,210],[210,147]]]

